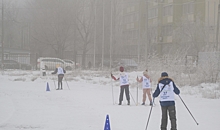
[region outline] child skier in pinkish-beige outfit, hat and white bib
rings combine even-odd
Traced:
[[[145,105],[146,98],[148,96],[148,99],[150,101],[150,105],[153,105],[152,102],[152,97],[151,97],[151,79],[150,76],[148,75],[148,71],[145,70],[143,72],[143,76],[139,79],[137,77],[137,82],[142,82],[142,88],[143,88],[143,99],[142,99],[142,104]],[[147,96],[146,96],[147,95]]]

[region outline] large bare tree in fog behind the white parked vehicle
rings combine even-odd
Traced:
[[[54,50],[55,57],[63,58],[64,51],[72,47],[77,0],[35,0],[33,7],[32,37],[44,51]]]

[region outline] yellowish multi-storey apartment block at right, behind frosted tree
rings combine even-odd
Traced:
[[[149,51],[160,55],[172,54],[187,42],[192,42],[195,45],[189,52],[197,53],[207,43],[215,44],[218,4],[219,0],[148,0]],[[179,33],[185,38],[182,45],[175,35],[177,30],[183,30]],[[183,36],[190,33],[186,32],[189,30],[195,35],[191,36],[193,39]]]

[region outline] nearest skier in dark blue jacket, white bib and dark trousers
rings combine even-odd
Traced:
[[[171,130],[177,130],[174,94],[179,95],[180,90],[176,87],[174,81],[168,77],[166,72],[161,73],[157,88],[153,93],[153,98],[160,95],[160,105],[162,110],[161,130],[167,130],[168,113],[171,121]]]

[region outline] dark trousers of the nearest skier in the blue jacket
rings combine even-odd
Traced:
[[[177,130],[176,126],[176,109],[175,106],[166,106],[162,107],[162,119],[161,119],[161,130],[167,130],[167,113],[169,113],[170,121],[171,121],[171,130]]]

